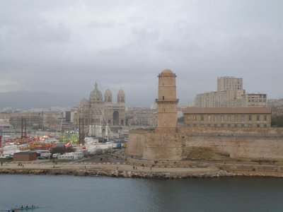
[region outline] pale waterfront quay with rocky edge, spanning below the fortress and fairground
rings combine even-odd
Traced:
[[[77,161],[37,160],[4,162],[0,174],[76,175],[140,178],[265,176],[283,177],[283,164],[274,161],[154,161],[123,152]]]

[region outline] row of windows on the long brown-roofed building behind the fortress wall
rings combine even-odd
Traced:
[[[204,122],[204,116],[206,116],[206,120],[207,122],[217,122],[217,119],[219,118],[219,116],[216,116],[216,115],[204,115],[204,114],[201,114],[200,115],[200,121]],[[254,121],[253,119],[255,119],[257,122],[260,122],[260,121],[264,121],[264,122],[267,122],[267,115],[256,115],[256,117],[252,116],[252,115],[244,115],[242,114],[241,117],[238,117],[238,115],[224,115],[224,114],[221,114],[220,115],[220,121],[221,122],[238,122],[238,119],[241,120],[241,122],[245,122],[246,120],[246,117],[248,117],[248,121],[249,122],[252,122]],[[190,116],[187,116],[187,121],[190,121]],[[197,115],[193,115],[192,117],[193,121],[197,121]]]

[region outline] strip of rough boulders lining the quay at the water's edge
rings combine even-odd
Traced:
[[[74,175],[74,176],[106,176],[180,179],[187,177],[227,177],[234,176],[225,170],[213,172],[132,172],[119,170],[62,170],[62,169],[0,169],[0,174],[8,175]]]

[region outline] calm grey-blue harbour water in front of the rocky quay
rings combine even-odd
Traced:
[[[283,211],[283,179],[0,175],[0,208],[35,211]]]

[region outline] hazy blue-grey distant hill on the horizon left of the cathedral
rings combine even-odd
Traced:
[[[0,93],[0,108],[13,109],[68,107],[79,105],[81,98],[47,92],[16,91]]]

